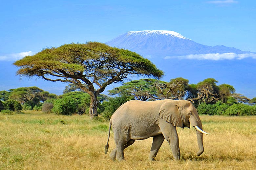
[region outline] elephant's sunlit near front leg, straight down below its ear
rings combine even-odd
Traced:
[[[181,152],[180,152],[179,136],[178,136],[176,127],[165,121],[161,122],[161,124],[159,124],[159,127],[162,130],[162,134],[164,138],[168,141],[172,149],[173,158],[175,160],[179,160],[181,157]]]

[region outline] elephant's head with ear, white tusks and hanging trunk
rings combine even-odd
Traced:
[[[171,123],[173,126],[190,128],[191,125],[195,127],[197,129],[199,147],[197,155],[200,156],[203,153],[203,133],[209,134],[203,131],[198,112],[191,102],[187,100],[167,100],[160,107],[159,114],[162,119]]]

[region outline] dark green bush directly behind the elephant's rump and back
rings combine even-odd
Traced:
[[[104,111],[101,113],[101,115],[107,119],[110,119],[112,114],[119,108],[122,104],[125,102],[133,100],[133,97],[126,97],[126,96],[121,96],[121,97],[115,97],[115,98],[110,98],[109,101],[105,101],[102,103],[104,107]]]

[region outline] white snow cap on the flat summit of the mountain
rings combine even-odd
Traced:
[[[166,35],[166,36],[190,40],[190,39],[182,36],[178,32],[168,31],[168,30],[144,30],[144,31],[129,31],[129,32],[127,32],[127,36],[134,35],[134,34],[135,35]]]

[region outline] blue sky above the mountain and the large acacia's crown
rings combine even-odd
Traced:
[[[252,0],[9,0],[1,2],[0,22],[0,62],[8,64],[45,47],[107,42],[138,30],[172,30],[204,45],[256,52]]]

